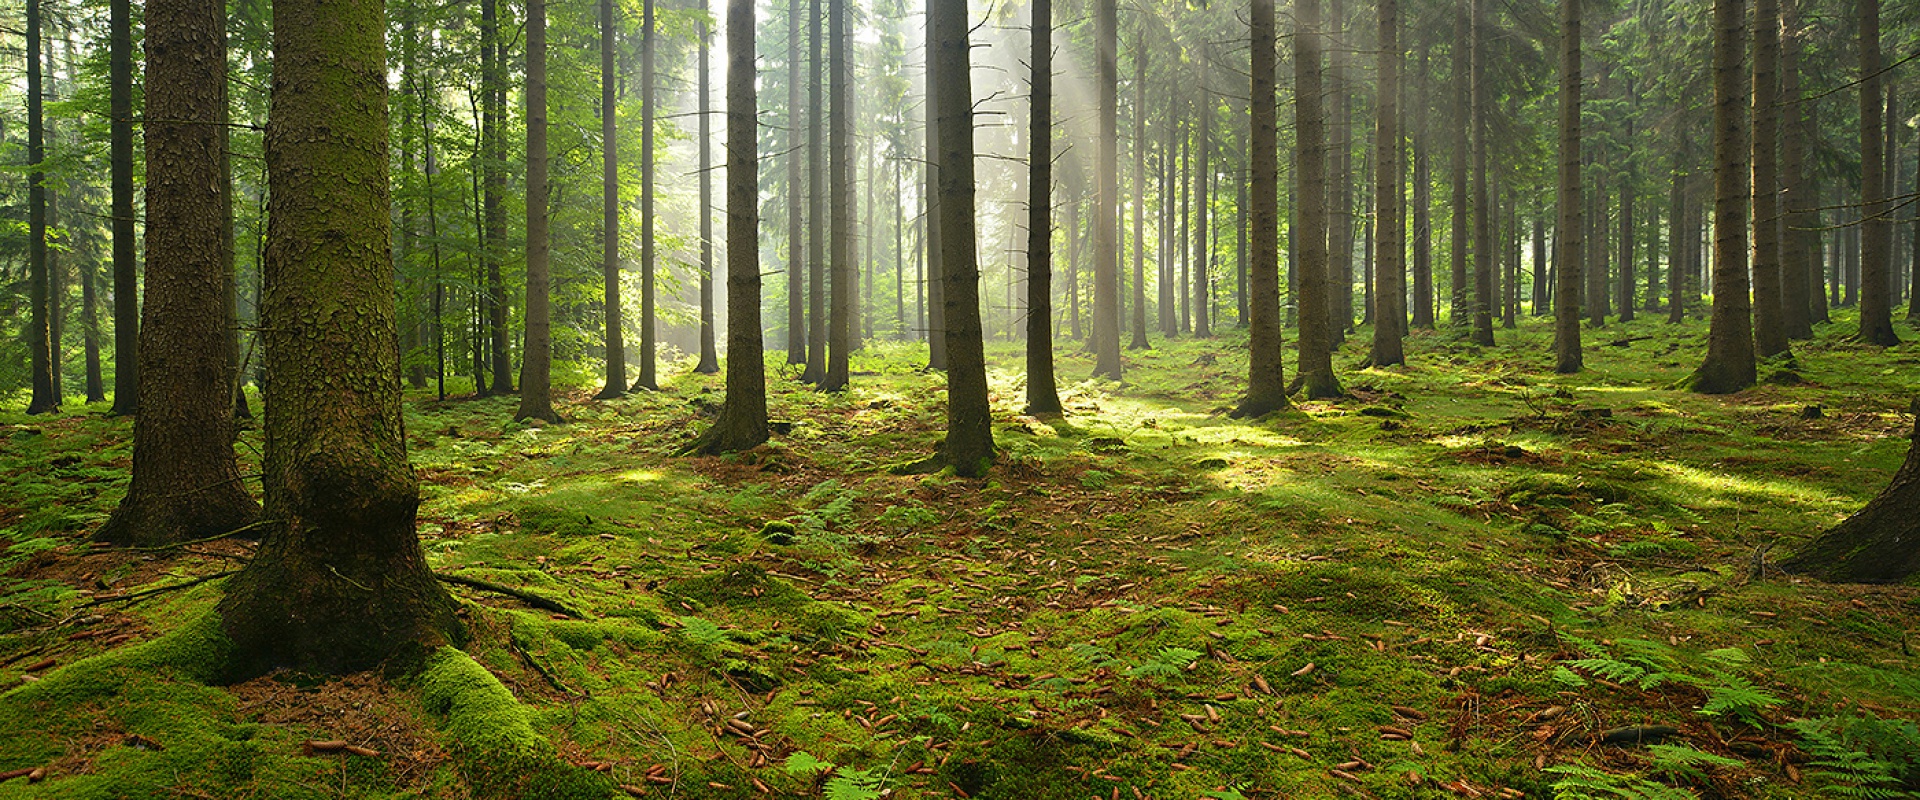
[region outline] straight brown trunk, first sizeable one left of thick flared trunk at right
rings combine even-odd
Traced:
[[[1580,353],[1580,2],[1559,0],[1559,221],[1553,224],[1553,372],[1582,368]]]

